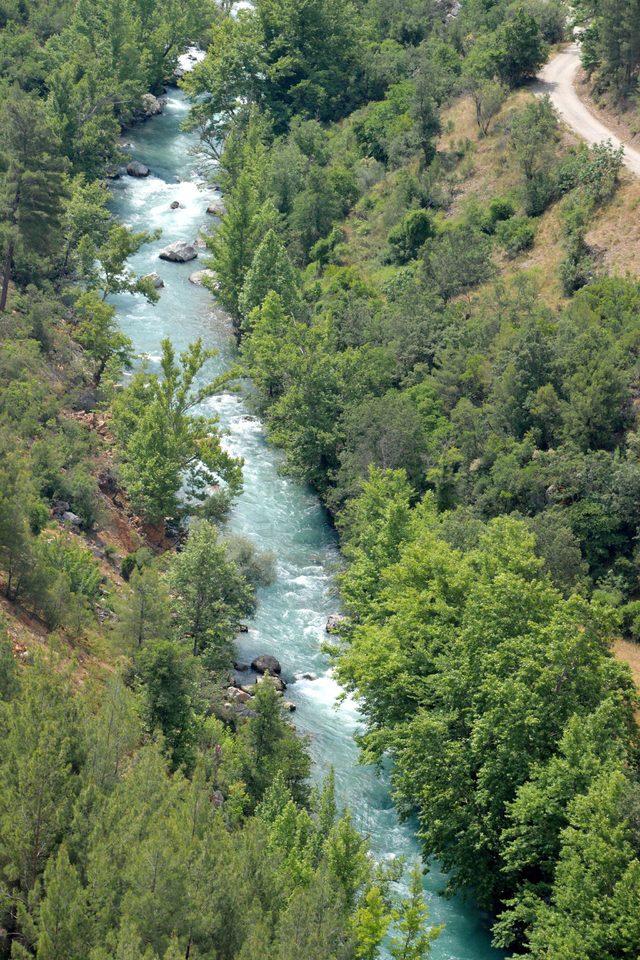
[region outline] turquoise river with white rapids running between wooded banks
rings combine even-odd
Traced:
[[[173,240],[194,240],[215,221],[206,214],[214,194],[198,175],[190,148],[193,137],[180,130],[188,109],[181,92],[171,90],[165,112],[129,131],[129,151],[147,164],[146,179],[123,177],[113,183],[114,213],[135,230],[162,230],[159,241],[146,245],[131,260],[139,274],[156,271],[165,287],[154,306],[142,297],[114,298],[119,322],[136,353],[157,364],[160,341],[170,337],[177,350],[197,337],[219,356],[211,373],[231,360],[234,345],[224,317],[211,295],[189,283],[189,274],[202,268],[165,263],[158,251]],[[177,200],[181,206],[171,210]],[[217,371],[216,371],[217,367]],[[277,559],[277,580],[261,590],[257,615],[249,632],[239,638],[238,656],[273,653],[283,665],[287,690],[297,710],[296,725],[308,734],[316,775],[333,766],[339,802],[347,804],[358,828],[368,834],[378,858],[403,855],[412,862],[418,846],[411,824],[399,823],[384,779],[358,764],[353,735],[358,712],[353,702],[336,706],[339,688],[321,652],[329,613],[338,606],[335,572],[339,556],[333,530],[314,494],[280,471],[281,458],[265,439],[241,397],[227,394],[207,403],[228,431],[225,445],[244,458],[244,492],[230,524]],[[302,673],[317,679],[303,680]],[[433,960],[497,960],[490,946],[485,919],[460,898],[438,895],[443,878],[433,867],[425,881],[431,917],[445,929],[433,948]]]

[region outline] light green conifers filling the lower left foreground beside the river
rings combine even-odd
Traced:
[[[0,701],[12,956],[293,960],[295,943],[347,958],[381,889],[384,911],[405,914],[333,778],[309,791],[305,745],[270,684],[232,732],[206,715],[196,662],[171,641],[137,653],[133,690],[78,688],[55,661],[18,673]]]

